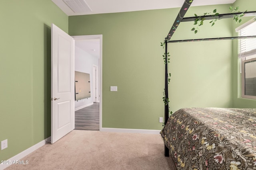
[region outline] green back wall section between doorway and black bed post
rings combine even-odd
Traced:
[[[103,35],[102,127],[160,129],[164,64],[160,42],[170,10],[69,17],[70,35]],[[177,13],[174,9],[173,13]],[[163,25],[163,26],[162,26]],[[153,50],[154,49],[154,50]],[[118,86],[118,92],[110,92]]]

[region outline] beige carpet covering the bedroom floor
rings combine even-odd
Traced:
[[[159,135],[74,130],[6,170],[176,170]]]

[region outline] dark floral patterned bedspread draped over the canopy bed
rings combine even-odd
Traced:
[[[177,170],[256,169],[256,109],[180,109],[160,134]]]

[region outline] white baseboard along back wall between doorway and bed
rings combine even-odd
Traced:
[[[161,130],[149,129],[120,129],[120,128],[107,128],[102,127],[102,132],[120,132],[120,133],[146,133],[146,134],[159,134]]]

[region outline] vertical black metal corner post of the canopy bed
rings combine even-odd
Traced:
[[[164,78],[164,96],[168,99],[168,50],[167,50],[167,40],[164,40],[165,43],[165,78]],[[168,102],[168,101],[167,101]],[[164,125],[166,125],[169,118],[169,103],[164,105]],[[164,145],[164,156],[169,156],[169,149]]]

